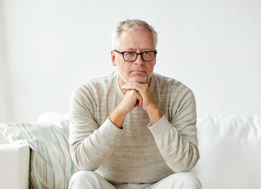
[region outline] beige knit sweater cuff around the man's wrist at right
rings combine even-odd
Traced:
[[[159,139],[164,137],[164,135],[168,134],[170,130],[173,128],[173,126],[167,120],[165,115],[163,115],[162,118],[159,119],[159,121],[156,122],[154,125],[151,125],[149,123],[148,128],[150,129],[153,137],[155,139]]]

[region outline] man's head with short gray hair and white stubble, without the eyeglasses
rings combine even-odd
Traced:
[[[156,45],[156,31],[152,26],[141,20],[127,19],[119,22],[112,32],[112,47],[113,50],[118,52],[155,51]],[[150,77],[156,63],[156,54],[151,61],[145,61],[145,55],[143,55],[143,59],[141,55],[138,55],[135,61],[125,61],[122,54],[113,50],[111,51],[112,64],[117,66],[120,83],[135,81],[150,84]]]

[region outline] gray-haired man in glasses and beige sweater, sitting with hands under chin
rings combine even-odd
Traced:
[[[118,71],[74,89],[69,143],[82,171],[69,188],[201,188],[188,173],[199,159],[195,98],[153,73],[156,45],[146,22],[118,23],[111,51]]]

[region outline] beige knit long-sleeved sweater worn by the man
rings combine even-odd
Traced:
[[[188,172],[199,159],[193,92],[153,73],[150,90],[164,114],[154,125],[141,107],[128,113],[123,129],[108,119],[124,94],[118,73],[86,81],[70,99],[70,153],[81,170],[112,183],[150,183]]]

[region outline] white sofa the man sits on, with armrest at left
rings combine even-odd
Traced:
[[[38,122],[68,118],[44,113]],[[261,188],[261,117],[204,116],[197,120],[200,160],[191,170],[203,188]],[[28,188],[30,150],[0,134],[0,188]]]

